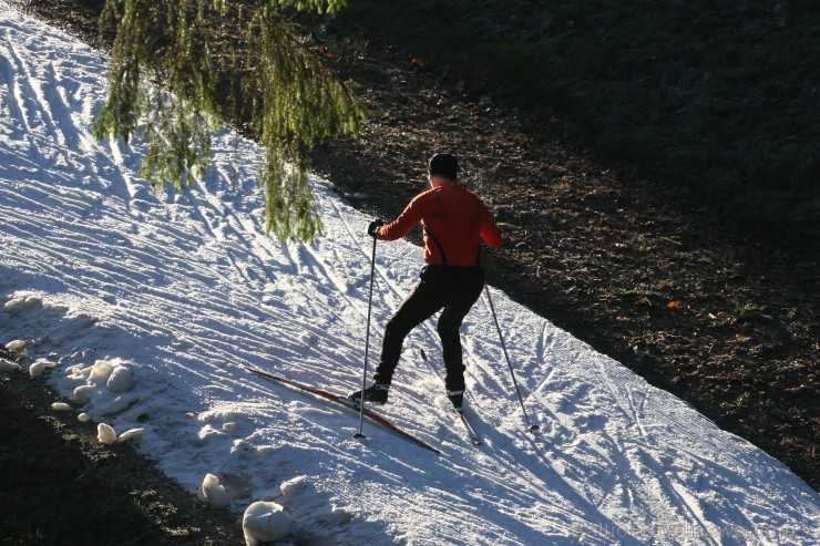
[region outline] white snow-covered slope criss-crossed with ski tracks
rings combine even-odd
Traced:
[[[204,184],[152,194],[139,146],[91,135],[105,75],[103,56],[0,1],[0,342],[53,365],[43,380],[72,411],[142,429],[167,475],[192,491],[216,476],[237,517],[275,499],[279,544],[818,544],[820,497],[782,464],[500,291],[536,434],[485,298],[463,329],[482,446],[439,392],[432,323],[381,412],[442,455],[367,421],[356,440],[355,414],[248,373],[360,385],[369,218],[317,179],[325,236],[266,237],[259,151],[228,133]],[[377,247],[371,364],[420,261]]]

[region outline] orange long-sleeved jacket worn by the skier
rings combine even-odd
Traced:
[[[398,218],[379,229],[378,238],[400,239],[419,223],[424,226],[427,264],[483,266],[481,240],[501,246],[501,231],[482,200],[454,183],[417,195]]]

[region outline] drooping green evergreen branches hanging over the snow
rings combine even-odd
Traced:
[[[191,187],[208,166],[211,135],[228,116],[260,142],[265,227],[281,240],[321,233],[308,173],[318,141],[357,135],[366,111],[301,39],[284,9],[335,14],[345,0],[106,0],[115,30],[98,138],[139,137],[141,176],[155,189]],[[225,65],[223,65],[225,64]],[[222,90],[222,94],[219,93]],[[228,96],[226,104],[219,96]],[[288,168],[288,164],[289,167]]]

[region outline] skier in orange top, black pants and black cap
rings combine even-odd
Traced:
[[[372,384],[351,393],[348,398],[353,402],[361,402],[362,392],[368,402],[387,402],[404,338],[442,310],[437,330],[447,370],[444,384],[453,408],[462,411],[465,368],[459,329],[484,288],[481,240],[499,248],[501,233],[484,203],[457,182],[458,171],[454,155],[433,155],[429,165],[431,188],[417,195],[392,223],[386,225],[379,218],[368,226],[371,237],[397,240],[421,223],[427,265],[419,284],[387,323]]]

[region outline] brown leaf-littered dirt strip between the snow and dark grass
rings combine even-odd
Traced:
[[[82,2],[22,3],[95,32]],[[344,14],[314,30],[371,110],[359,140],[315,151],[346,199],[392,218],[424,187],[432,153],[458,154],[506,238],[488,260],[493,286],[820,488],[816,253],[732,233],[663,181],[596,158],[560,115],[476,94],[445,59],[417,58]],[[28,419],[25,391],[14,393]]]

